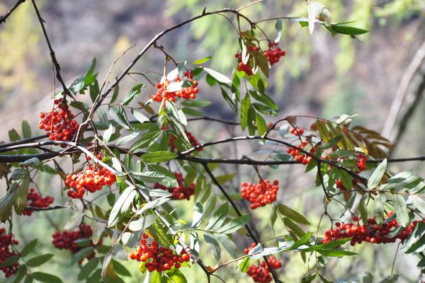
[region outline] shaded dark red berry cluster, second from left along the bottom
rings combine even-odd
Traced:
[[[60,233],[59,231],[56,231],[52,237],[53,237],[53,246],[55,248],[59,248],[60,250],[71,250],[71,252],[78,253],[79,250],[81,250],[84,247],[79,247],[76,243],[77,240],[83,239],[83,238],[91,238],[93,231],[91,230],[90,225],[81,224],[79,226],[79,229],[76,231],[63,231]],[[102,241],[99,241],[97,245],[101,245]],[[91,243],[91,246],[95,246],[93,243]],[[87,260],[91,260],[94,258],[95,253],[91,253],[90,255],[87,255]],[[80,260],[79,263],[81,264],[83,260]]]

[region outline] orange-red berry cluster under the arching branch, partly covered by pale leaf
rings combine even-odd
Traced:
[[[187,81],[191,86],[185,86],[180,91],[168,91],[170,83],[178,83],[182,81],[179,76],[174,79],[174,81],[165,80],[162,83],[157,83],[155,86],[157,88],[157,93],[152,96],[152,100],[157,102],[162,102],[163,100],[170,100],[174,102],[176,97],[184,99],[195,99],[196,94],[199,92],[198,81],[193,80],[192,71],[184,71],[183,76],[185,77],[184,81]]]

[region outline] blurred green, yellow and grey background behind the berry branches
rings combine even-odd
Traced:
[[[84,74],[90,67],[91,59],[95,57],[100,71],[99,78],[103,79],[113,61],[135,45],[115,64],[111,75],[113,78],[155,34],[201,13],[204,7],[212,11],[249,4],[246,0],[38,2],[46,21],[47,33],[62,67],[62,75],[68,83]],[[420,91],[421,82],[425,80],[425,1],[323,0],[322,3],[331,11],[333,22],[355,21],[351,25],[368,29],[370,33],[357,39],[341,35],[333,37],[323,28],[317,27],[314,34],[310,35],[299,24],[284,21],[280,47],[286,50],[287,56],[276,67],[273,66],[267,90],[280,106],[280,117],[312,115],[332,118],[342,114],[358,114],[353,123],[377,132],[382,131],[388,119],[395,118],[394,127],[383,133],[385,137],[397,141],[392,156],[425,156],[425,102],[422,99],[423,91]],[[6,13],[13,4],[14,1],[2,0],[0,14]],[[242,13],[253,21],[258,21],[277,16],[307,16],[307,8],[305,1],[300,0],[262,1],[245,8]],[[261,27],[274,37],[276,32],[273,21],[262,23]],[[203,18],[169,33],[159,44],[179,62],[212,56],[213,59],[208,63],[210,67],[227,75],[231,74],[234,67],[233,55],[238,48],[237,34],[230,28],[227,20],[220,16]],[[160,78],[163,67],[164,55],[158,50],[149,50],[137,63],[134,71],[152,71],[149,78],[156,81]],[[412,68],[414,72],[409,76]],[[406,91],[400,91],[403,89],[400,88],[403,78],[409,79]],[[140,77],[128,76],[120,85],[122,93],[138,81],[141,81]],[[209,88],[205,84],[203,86],[205,87],[201,88],[200,98],[213,101],[213,106],[205,109],[205,115],[234,119],[220,90]],[[8,129],[16,128],[21,132],[22,120],[28,120],[33,126],[33,134],[36,134],[38,112],[50,107],[54,89],[47,45],[33,7],[28,1],[6,23],[0,25],[0,140],[8,140]],[[152,89],[146,88],[138,100],[147,100],[149,91],[152,93]],[[395,116],[397,111],[391,110],[391,105],[399,98],[399,93],[404,94],[405,98],[399,107],[399,115]],[[79,98],[87,102],[90,99],[87,96]],[[302,123],[303,120],[300,120],[300,124]],[[309,121],[306,120],[305,126],[308,125]],[[212,122],[194,122],[190,129],[204,142],[242,134],[239,129]],[[237,147],[217,147],[213,152],[205,151],[205,154],[254,156],[255,150],[256,144],[241,143]],[[425,176],[424,163],[419,161],[399,163],[391,168],[395,171],[412,169]],[[237,192],[241,178],[250,178],[253,175],[252,168],[227,166],[217,170],[240,174],[239,178],[227,183],[232,192]],[[270,174],[270,178],[280,180],[284,189],[280,192],[279,200],[312,219],[310,230],[314,231],[314,224],[317,224],[322,212],[322,202],[320,191],[313,185],[312,175],[303,175],[302,168],[291,166],[281,166],[275,171],[261,168],[261,171],[264,175]],[[38,182],[42,192],[55,195],[58,203],[66,202],[66,198],[61,197],[60,182],[56,177],[44,175]],[[193,202],[190,202],[186,208],[179,208],[187,221],[191,219],[192,205]],[[273,237],[272,234],[267,236],[271,232],[266,226],[271,209],[257,210],[257,229],[261,231],[262,238]],[[62,229],[70,215],[71,212],[55,211],[16,219],[16,236],[23,243],[39,238],[42,242],[38,247],[39,252],[47,251],[51,233],[55,229]],[[323,228],[327,228],[326,224]],[[241,249],[248,244],[246,241],[238,241]],[[360,255],[356,258],[330,260],[329,270],[324,274],[333,280],[361,279],[366,272],[371,272],[375,279],[390,275],[397,245],[378,248],[363,245],[353,250]],[[210,265],[215,265],[208,255],[208,248],[204,251],[205,260]],[[65,252],[58,253],[55,259],[52,270],[57,271],[58,275],[68,276],[70,279],[67,282],[77,282],[72,279],[77,267],[68,265],[69,255]],[[300,281],[308,269],[300,256],[282,255],[281,259],[284,262],[281,272],[283,281]],[[400,282],[418,280],[416,262],[414,257],[406,257],[402,253],[397,255],[395,273],[401,276]],[[137,265],[128,262],[125,265],[137,276],[136,279],[126,279],[126,282],[140,282],[142,276],[137,275]],[[223,270],[222,274],[233,272],[232,268]],[[198,267],[184,270],[184,273],[190,278],[189,282],[203,282],[205,279]],[[235,272],[234,277],[226,282],[241,280],[245,282],[247,279]]]

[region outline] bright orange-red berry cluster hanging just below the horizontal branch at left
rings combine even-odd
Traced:
[[[96,192],[96,190],[102,190],[104,185],[110,186],[115,183],[117,178],[111,171],[98,166],[95,168],[95,166],[89,165],[79,173],[67,175],[65,185],[69,186],[68,197],[81,199],[86,191]]]

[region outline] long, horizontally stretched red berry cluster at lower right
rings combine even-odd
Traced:
[[[393,214],[394,212],[389,212],[387,219]],[[389,237],[391,231],[399,227],[396,219],[377,224],[375,218],[370,217],[368,223],[362,225],[358,223],[359,220],[358,216],[354,216],[353,221],[356,223],[336,222],[334,229],[327,229],[324,232],[322,243],[329,243],[340,238],[351,238],[351,246],[356,245],[356,243],[363,243],[363,241],[368,243],[394,243],[397,239],[406,240],[418,224],[418,221],[413,221],[397,235]]]

